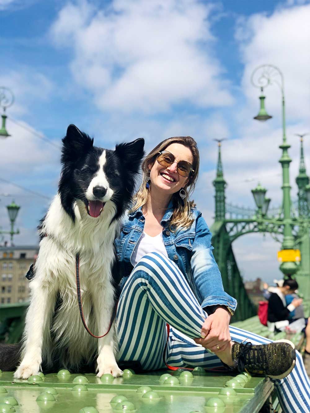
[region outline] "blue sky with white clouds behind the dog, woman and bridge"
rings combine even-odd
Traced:
[[[98,146],[112,148],[143,136],[147,150],[168,136],[191,135],[202,157],[194,198],[211,226],[217,158],[212,139],[225,137],[228,201],[253,207],[250,189],[260,180],[276,207],[280,93],[275,85],[265,90],[273,118],[260,124],[253,121],[259,91],[250,84],[252,70],[270,63],[279,66],[286,82],[296,197],[294,133],[310,131],[309,1],[0,0],[0,10],[0,84],[15,95],[7,109],[12,136],[0,141],[0,176],[47,198],[56,193],[60,152],[25,128],[60,144],[75,123]],[[308,153],[305,140],[310,172]],[[3,229],[12,197],[21,205],[15,242],[35,243],[36,225],[50,201],[0,182]],[[262,235],[234,244],[246,279],[262,271],[269,280],[279,276],[277,249]]]

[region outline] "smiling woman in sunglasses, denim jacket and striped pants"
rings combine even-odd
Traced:
[[[189,202],[198,168],[189,136],[162,141],[143,161],[144,181],[116,241],[119,364],[246,368],[273,377],[284,411],[310,411],[310,382],[299,354],[293,368],[290,342],[229,327],[236,300],[223,290],[210,231]]]

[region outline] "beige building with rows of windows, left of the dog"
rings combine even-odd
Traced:
[[[0,304],[29,300],[29,280],[25,275],[38,251],[38,245],[0,247]]]

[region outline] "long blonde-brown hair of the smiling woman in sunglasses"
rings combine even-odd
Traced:
[[[149,165],[153,167],[155,161],[157,160],[158,152],[165,150],[167,146],[171,145],[172,143],[180,143],[181,145],[184,145],[191,150],[191,153],[193,155],[194,170],[188,176],[188,182],[184,186],[184,189],[187,192],[184,200],[179,196],[179,192],[176,192],[172,195],[174,211],[172,214],[169,228],[170,230],[175,232],[179,228],[188,228],[193,223],[191,207],[194,206],[194,202],[189,201],[189,197],[192,195],[193,190],[195,189],[196,181],[198,178],[199,152],[197,148],[197,143],[193,138],[191,138],[191,136],[176,136],[174,138],[167,138],[160,142],[153,150],[151,150],[151,152],[148,155],[146,155],[141,165],[143,180],[140,188],[138,189],[138,192],[136,193],[136,195],[134,195],[133,207],[131,211],[136,211],[138,208],[143,207],[143,205],[146,204],[148,200],[149,189],[145,186],[145,178],[147,176],[146,174],[150,170]]]

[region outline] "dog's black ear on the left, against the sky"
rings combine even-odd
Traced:
[[[93,141],[75,125],[69,125],[67,134],[62,139],[61,162],[76,161],[93,147]]]

